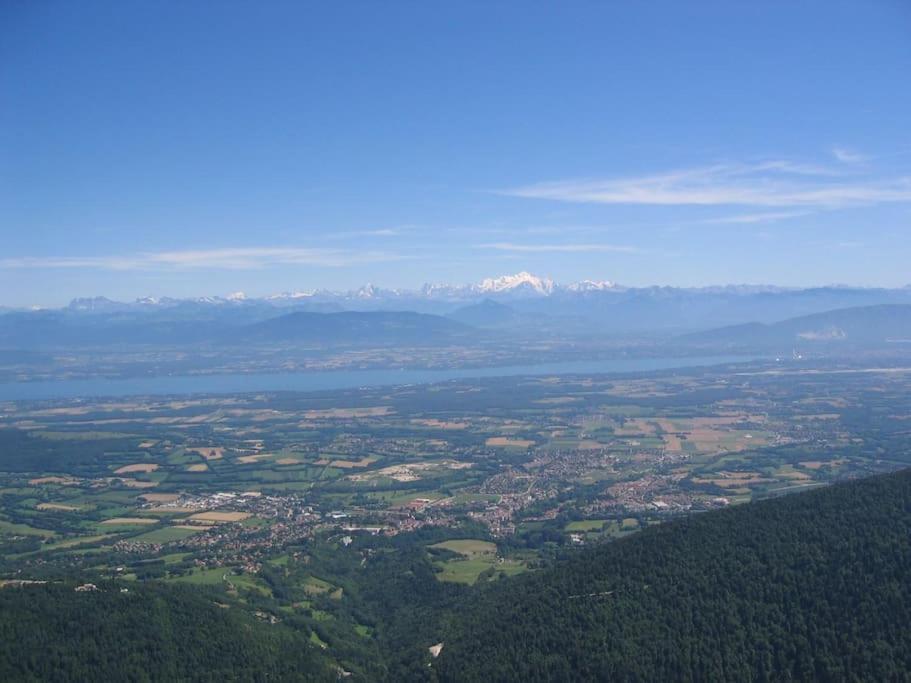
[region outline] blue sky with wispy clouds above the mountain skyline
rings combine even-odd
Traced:
[[[7,2],[0,305],[911,282],[911,4]]]

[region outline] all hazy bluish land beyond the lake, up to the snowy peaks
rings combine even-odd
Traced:
[[[732,354],[900,362],[908,339],[906,288],[561,286],[523,272],[414,292],[95,297],[9,311],[0,314],[0,378],[456,370]]]

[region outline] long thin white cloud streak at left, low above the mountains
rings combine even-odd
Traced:
[[[256,270],[281,265],[344,267],[404,258],[384,251],[235,247],[142,252],[110,256],[24,256],[0,259],[0,268],[87,268],[98,270]]]

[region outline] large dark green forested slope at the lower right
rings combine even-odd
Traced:
[[[911,472],[707,513],[483,585],[444,681],[907,680]]]

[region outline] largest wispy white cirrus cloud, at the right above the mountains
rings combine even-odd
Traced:
[[[911,202],[911,178],[859,178],[825,166],[766,161],[606,180],[536,183],[500,194],[591,204],[835,209]]]

